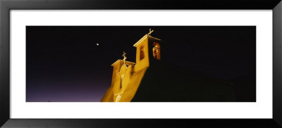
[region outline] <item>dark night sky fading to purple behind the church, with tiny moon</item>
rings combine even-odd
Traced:
[[[135,62],[133,44],[149,28],[166,63],[221,79],[255,75],[255,26],[27,26],[27,102],[100,101],[111,64],[123,51]]]

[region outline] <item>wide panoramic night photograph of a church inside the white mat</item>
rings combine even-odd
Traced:
[[[26,102],[256,102],[256,26],[26,26]]]

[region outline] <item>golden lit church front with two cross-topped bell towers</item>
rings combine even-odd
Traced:
[[[133,45],[136,47],[136,63],[126,61],[126,53],[123,51],[123,60],[118,59],[112,64],[111,87],[102,101],[131,101],[147,68],[153,67],[153,63],[158,65],[157,61],[161,60],[161,39],[152,37],[152,32],[154,30],[149,29],[149,33]]]

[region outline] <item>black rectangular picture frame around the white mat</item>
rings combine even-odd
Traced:
[[[10,10],[12,9],[270,9],[273,11],[272,119],[11,119]],[[280,0],[1,0],[0,126],[2,127],[282,127],[282,4]]]

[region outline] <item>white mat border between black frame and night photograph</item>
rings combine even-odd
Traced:
[[[257,102],[25,103],[26,25],[256,25]],[[272,11],[11,11],[11,118],[128,117],[272,118]]]

